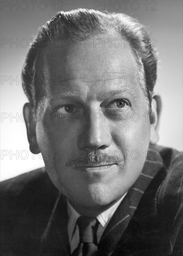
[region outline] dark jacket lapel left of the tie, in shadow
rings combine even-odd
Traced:
[[[69,256],[69,238],[67,233],[67,202],[59,194],[52,210],[49,222],[42,235],[41,256]]]

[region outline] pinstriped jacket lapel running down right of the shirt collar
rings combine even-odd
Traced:
[[[110,256],[113,254],[120,242],[123,241],[123,234],[131,221],[145,190],[162,168],[163,161],[158,150],[149,148],[145,165],[136,182],[120,203],[113,217],[104,230],[99,242],[99,255]]]

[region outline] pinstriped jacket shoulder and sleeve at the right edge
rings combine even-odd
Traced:
[[[169,254],[182,248],[183,236],[183,153],[159,147],[163,160],[164,181],[158,189],[157,203],[164,226],[164,248]]]

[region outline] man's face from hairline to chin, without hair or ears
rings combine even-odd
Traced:
[[[81,207],[118,200],[138,178],[150,141],[131,48],[94,47],[93,39],[48,46],[37,65],[46,89],[36,135],[52,182]]]

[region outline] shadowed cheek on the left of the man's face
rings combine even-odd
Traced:
[[[76,151],[76,142],[73,141],[75,137],[72,131],[62,127],[48,127],[41,122],[37,125],[37,141],[46,171],[53,184],[63,194],[69,179],[69,173],[64,171],[64,163],[71,157],[73,150]]]

